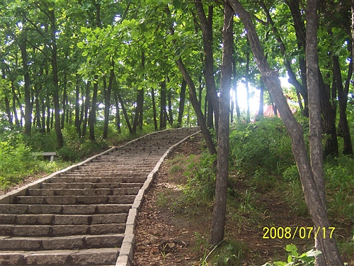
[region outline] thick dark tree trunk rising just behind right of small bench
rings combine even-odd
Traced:
[[[55,26],[55,13],[54,9],[48,11],[50,19],[50,28],[51,28],[51,38],[52,38],[52,72],[53,72],[53,101],[54,101],[54,110],[55,110],[55,133],[57,135],[57,145],[59,148],[62,148],[64,145],[62,129],[60,127],[60,106],[59,106],[59,78],[57,70],[57,40],[56,40],[56,26]]]

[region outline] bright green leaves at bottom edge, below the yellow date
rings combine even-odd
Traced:
[[[309,250],[307,251],[307,253],[299,255],[299,253],[297,252],[296,245],[293,244],[287,245],[285,250],[289,253],[289,255],[287,256],[287,262],[267,262],[262,266],[314,266],[315,258],[321,254],[321,251],[319,250]]]

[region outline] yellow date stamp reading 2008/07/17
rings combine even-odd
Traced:
[[[263,238],[279,238],[279,239],[282,239],[282,238],[286,238],[286,239],[294,239],[295,236],[299,235],[299,238],[311,238],[311,233],[313,232],[314,233],[314,238],[317,237],[317,235],[319,234],[319,232],[322,230],[323,231],[323,238],[326,238],[326,233],[327,231],[329,231],[329,238],[332,238],[332,235],[333,235],[333,231],[335,230],[336,228],[335,227],[331,227],[329,226],[328,229],[326,229],[326,227],[319,227],[319,228],[316,228],[316,230],[314,230],[314,227],[313,226],[307,226],[307,227],[295,227],[295,228],[290,228],[290,227],[278,227],[278,228],[275,228],[275,227],[263,227],[263,231],[265,231],[265,233],[263,233]],[[269,235],[268,235],[269,234]]]

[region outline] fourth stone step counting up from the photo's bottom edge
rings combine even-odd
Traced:
[[[1,224],[18,225],[91,225],[125,223],[126,220],[127,214],[0,214]]]

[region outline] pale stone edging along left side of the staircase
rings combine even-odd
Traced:
[[[195,128],[197,128],[197,127],[195,127]],[[176,128],[176,129],[178,130],[178,129],[181,129],[181,128]],[[25,194],[25,192],[26,192],[26,189],[30,189],[30,188],[37,189],[37,188],[40,187],[40,184],[41,184],[42,182],[45,182],[45,181],[47,181],[47,180],[49,180],[49,179],[52,179],[52,177],[57,177],[57,176],[59,176],[59,174],[62,174],[62,173],[64,173],[64,172],[69,172],[70,170],[75,170],[75,169],[77,169],[79,166],[84,165],[84,164],[87,163],[87,162],[91,162],[92,160],[96,159],[97,157],[100,157],[100,156],[102,156],[102,155],[106,155],[106,154],[112,152],[113,150],[118,150],[119,148],[122,148],[122,147],[124,147],[125,145],[129,145],[130,143],[134,143],[135,141],[138,141],[138,140],[140,140],[141,138],[146,138],[146,137],[149,136],[149,135],[154,135],[154,134],[156,134],[156,133],[164,132],[164,131],[169,131],[169,130],[171,130],[171,128],[166,128],[166,129],[163,130],[163,131],[155,131],[155,132],[153,132],[153,133],[149,133],[149,134],[143,135],[143,136],[141,136],[141,137],[139,137],[139,138],[136,138],[135,140],[130,140],[129,142],[125,143],[124,145],[113,146],[112,148],[109,148],[108,150],[105,150],[105,151],[103,151],[102,153],[99,153],[98,155],[93,155],[92,157],[89,157],[89,158],[87,158],[86,160],[84,160],[84,161],[82,161],[82,162],[79,162],[79,163],[77,163],[77,164],[75,164],[75,165],[71,165],[71,166],[69,166],[69,167],[67,167],[67,168],[64,168],[64,169],[62,169],[62,170],[59,170],[59,171],[57,171],[57,172],[54,172],[54,173],[48,175],[47,177],[43,177],[43,178],[41,178],[41,179],[35,180],[34,182],[32,182],[32,183],[30,183],[30,184],[25,184],[23,187],[19,187],[18,189],[15,189],[15,190],[13,190],[13,191],[11,191],[11,192],[8,192],[8,193],[6,193],[6,194],[4,194],[4,195],[1,195],[1,196],[0,196],[0,204],[10,204],[10,203],[13,202],[13,199],[14,199],[16,196],[24,196],[24,194]],[[199,131],[198,131],[198,132],[199,132]],[[197,133],[198,133],[198,132],[197,132]],[[196,133],[195,133],[195,134],[196,134]],[[193,135],[194,135],[194,134],[193,134]],[[190,136],[190,135],[189,135],[189,136]],[[188,137],[189,137],[189,136],[188,136]],[[188,138],[188,137],[187,137],[187,138]],[[183,139],[183,140],[184,140],[184,139]],[[181,140],[179,143],[181,143],[183,140]],[[164,155],[163,155],[162,157],[164,157]]]

